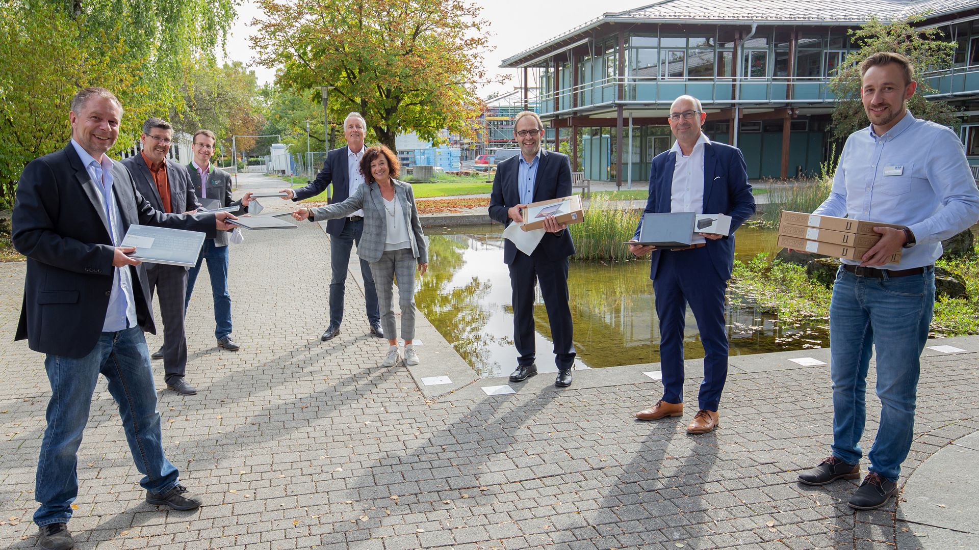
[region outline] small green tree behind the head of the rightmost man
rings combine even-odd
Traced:
[[[897,52],[907,56],[914,66],[917,90],[908,101],[908,109],[915,118],[924,118],[957,128],[958,118],[954,107],[941,100],[928,100],[925,96],[937,90],[928,85],[922,72],[952,67],[956,45],[944,39],[937,28],[917,28],[913,23],[920,17],[907,21],[881,23],[876,19],[850,30],[851,41],[860,49],[847,55],[846,63],[830,79],[829,90],[839,99],[833,109],[833,139],[840,142],[847,136],[870,124],[861,102],[860,64],[877,52]]]

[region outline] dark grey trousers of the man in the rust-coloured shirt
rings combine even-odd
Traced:
[[[187,369],[187,337],[184,333],[184,296],[187,294],[187,268],[158,264],[146,270],[150,299],[160,298],[163,317],[163,373],[167,384],[183,378]]]

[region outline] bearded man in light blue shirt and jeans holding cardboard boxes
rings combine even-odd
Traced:
[[[979,220],[979,192],[955,132],[908,111],[916,87],[908,58],[877,53],[861,64],[861,73],[870,126],[847,138],[832,192],[814,213],[905,227],[874,228],[880,241],[861,261],[842,259],[829,307],[832,455],[799,481],[823,485],[860,478],[873,345],[880,427],[867,453],[869,473],[849,502],[872,510],[897,493],[910,449],[918,358],[935,306],[933,264],[943,239]],[[901,260],[888,263],[902,248]]]

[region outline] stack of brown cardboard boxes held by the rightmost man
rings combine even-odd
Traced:
[[[778,246],[859,260],[880,240],[880,234],[873,230],[874,227],[902,228],[891,223],[782,210],[778,223]],[[891,255],[888,263],[900,260],[901,251],[898,251]]]

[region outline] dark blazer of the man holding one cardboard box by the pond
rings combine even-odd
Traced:
[[[520,204],[520,186],[517,176],[520,173],[520,155],[501,161],[496,166],[492,179],[492,192],[489,194],[489,217],[510,225],[507,210]],[[540,150],[537,160],[537,175],[534,180],[534,202],[547,201],[571,196],[571,162],[567,155],[553,151]],[[575,253],[575,243],[567,230],[557,233],[544,233],[537,250],[548,259],[556,260]],[[509,239],[503,240],[503,262],[511,263],[517,255],[517,247]]]

